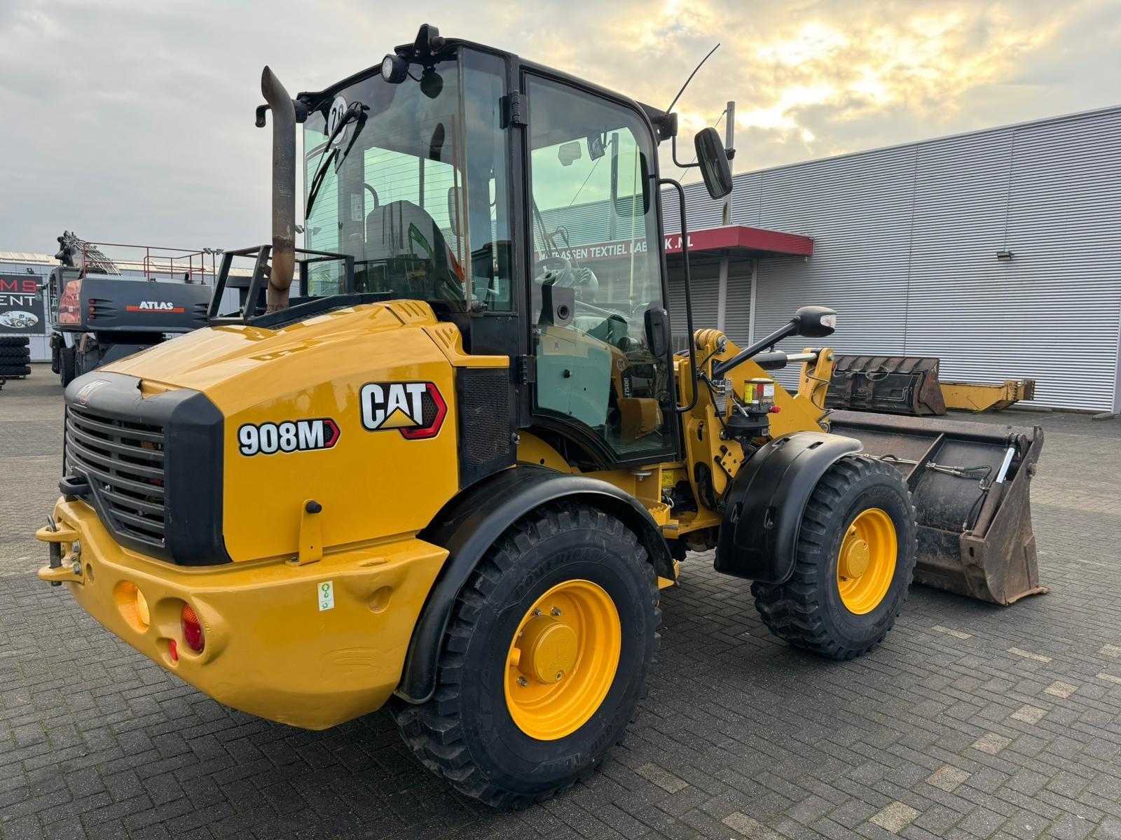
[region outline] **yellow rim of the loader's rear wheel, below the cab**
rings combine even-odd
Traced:
[[[622,628],[611,596],[590,580],[566,580],[537,599],[510,642],[506,706],[538,740],[580,729],[608,696]]]

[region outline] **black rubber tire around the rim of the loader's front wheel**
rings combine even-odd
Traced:
[[[887,594],[870,613],[856,615],[841,600],[837,560],[856,515],[879,507],[896,526],[896,570]],[[779,585],[751,585],[756,609],[776,636],[835,660],[876,647],[907,600],[918,556],[918,528],[907,483],[881,460],[845,456],[822,476],[802,517],[794,575]]]

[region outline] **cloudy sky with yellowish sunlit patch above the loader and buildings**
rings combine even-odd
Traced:
[[[317,90],[426,21],[661,108],[719,41],[678,111],[736,101],[736,171],[1121,104],[1119,0],[0,0],[0,250],[266,241],[261,66]]]

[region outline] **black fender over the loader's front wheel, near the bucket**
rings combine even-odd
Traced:
[[[814,487],[833,464],[861,447],[853,438],[799,431],[756,452],[732,480],[716,541],[716,571],[786,582],[794,573],[802,515]]]

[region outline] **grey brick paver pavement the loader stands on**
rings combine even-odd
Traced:
[[[383,713],[306,732],[226,709],[35,578],[62,402],[0,392],[3,838],[1121,838],[1121,422],[1009,412],[1047,441],[1034,492],[1049,595],[923,587],[872,655],[769,636],[749,585],[692,557],[664,597],[649,698],[587,784],[491,812]]]

